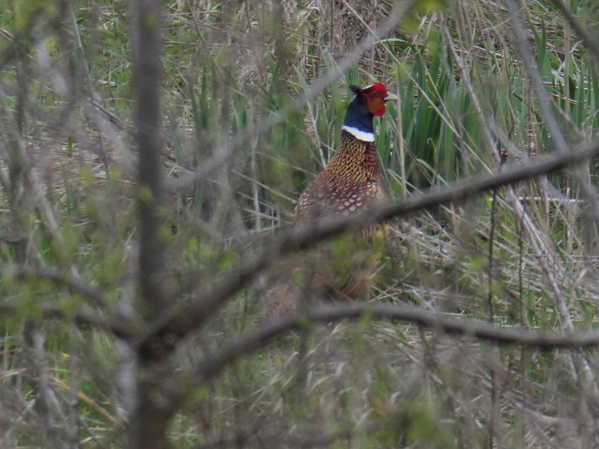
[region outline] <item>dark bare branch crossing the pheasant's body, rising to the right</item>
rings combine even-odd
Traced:
[[[429,209],[445,203],[458,204],[482,192],[533,179],[540,175],[557,172],[566,167],[589,160],[599,155],[599,142],[583,146],[582,149],[560,154],[549,158],[540,158],[531,164],[514,167],[497,175],[478,176],[456,182],[451,188],[431,189],[425,194],[409,201],[388,201],[373,207],[365,208],[364,212],[355,216],[329,216],[311,221],[305,225],[284,228],[265,239],[264,250],[251,258],[240,268],[226,271],[211,288],[195,298],[181,313],[165,316],[155,324],[149,334],[140,344],[149,343],[155,337],[168,337],[176,340],[184,337],[192,329],[200,326],[215,311],[225,303],[226,299],[246,286],[257,273],[270,266],[280,256],[294,249],[306,249],[322,240],[338,236],[349,231],[356,231],[387,219],[406,216],[418,210]],[[155,342],[154,342],[155,343]]]

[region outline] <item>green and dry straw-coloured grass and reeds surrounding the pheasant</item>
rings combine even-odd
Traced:
[[[391,1],[164,2],[169,181],[202,166],[239,133],[285,117],[238,145],[192,190],[167,194],[163,237],[176,304],[250,254],[259,233],[289,221],[295,198],[340,140],[350,84],[381,81],[400,97],[376,120],[380,163],[399,198],[497,172],[499,160],[510,165],[555,152],[504,2],[416,4],[344,77],[295,110],[298,96],[385,22]],[[597,29],[594,1],[571,0],[570,10],[589,32]],[[553,2],[524,2],[522,12],[567,142],[573,148],[588,142],[599,120],[597,61]],[[104,292],[108,304],[101,310],[109,315],[121,313],[134,290],[131,26],[123,0],[0,0],[0,169],[7,181],[0,190],[0,261],[77,274]],[[484,126],[495,137],[492,148]],[[578,170],[596,183],[596,161]],[[394,222],[370,298],[485,319],[490,292],[498,323],[560,328],[545,257],[572,319],[594,326],[595,218],[580,206],[579,187],[555,175],[523,183],[516,194],[544,256],[506,197],[498,194],[491,215],[492,197],[481,196]],[[83,304],[81,295],[43,276],[1,273],[0,294],[18,308],[0,317],[0,447],[64,441],[120,447],[118,344],[102,331],[41,319],[44,301],[68,312]],[[181,364],[247,329],[270,276],[198,331],[180,351]],[[573,447],[582,436],[570,416],[584,392],[568,352],[505,347],[492,361],[488,353],[485,344],[406,325],[324,326],[190,392],[173,423],[173,441],[177,447],[488,447],[492,366],[504,374],[498,447],[543,447],[549,439]],[[594,352],[588,359],[597,362]],[[43,397],[49,390],[54,408]]]

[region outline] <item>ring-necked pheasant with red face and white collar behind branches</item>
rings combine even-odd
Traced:
[[[347,108],[341,142],[331,161],[299,197],[294,224],[327,215],[350,215],[386,196],[373,118],[385,114],[385,102],[397,97],[381,83],[349,88],[355,98]],[[376,270],[387,230],[386,223],[374,225],[359,237],[337,240],[303,255],[301,261],[295,259],[292,279],[274,289],[253,324],[291,310],[312,295],[353,301]]]

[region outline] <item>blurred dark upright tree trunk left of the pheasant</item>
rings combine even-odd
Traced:
[[[144,320],[153,322],[168,307],[165,285],[166,251],[161,236],[162,142],[160,125],[162,76],[162,23],[164,2],[132,0],[131,41],[135,130],[138,155],[139,259],[138,285]],[[137,347],[134,361],[123,365],[131,383],[124,394],[131,398],[127,429],[131,449],[166,449],[168,424],[174,411],[156,394],[156,379],[170,377],[164,353],[155,347]],[[160,348],[162,349],[162,348]]]

